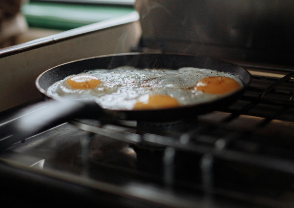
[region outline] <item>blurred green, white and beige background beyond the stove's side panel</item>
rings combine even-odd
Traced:
[[[1,0],[0,48],[133,12],[134,0]]]

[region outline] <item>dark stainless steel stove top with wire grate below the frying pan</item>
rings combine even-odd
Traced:
[[[294,207],[293,69],[240,64],[252,81],[223,110],[167,123],[73,120],[5,146],[2,202]],[[2,142],[13,113],[2,113]]]

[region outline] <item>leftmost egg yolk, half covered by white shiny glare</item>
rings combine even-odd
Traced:
[[[67,83],[73,89],[91,89],[102,82],[97,77],[91,75],[79,75],[67,79]]]

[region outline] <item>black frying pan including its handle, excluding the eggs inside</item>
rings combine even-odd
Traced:
[[[218,70],[233,74],[234,76],[238,77],[244,83],[244,87],[238,91],[235,91],[233,94],[211,102],[154,110],[102,109],[94,102],[61,102],[50,98],[47,94],[47,89],[50,85],[64,79],[69,75],[78,74],[85,70],[93,70],[98,68],[112,69],[124,65],[134,66],[137,68],[168,69],[178,69],[180,67],[190,66]],[[236,101],[239,96],[242,95],[249,82],[249,72],[236,64],[193,55],[125,53],[81,59],[55,66],[38,76],[36,79],[36,86],[38,90],[46,98],[48,98],[48,101],[45,102],[46,109],[36,111],[35,113],[29,113],[29,116],[23,116],[19,122],[17,131],[22,132],[22,130],[25,129],[26,132],[37,132],[38,130],[43,129],[45,126],[48,127],[50,125],[57,125],[61,122],[67,121],[68,119],[74,118],[98,119],[99,117],[107,116],[123,120],[161,122],[178,120],[180,118],[196,117],[198,114],[219,110],[221,107]],[[38,108],[43,109],[43,103],[38,105]],[[26,114],[25,112],[22,113]],[[26,134],[27,133],[22,133],[22,135]]]

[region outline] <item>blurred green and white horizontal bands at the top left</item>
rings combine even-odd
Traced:
[[[134,0],[30,0],[22,13],[30,27],[70,30],[135,11]]]

